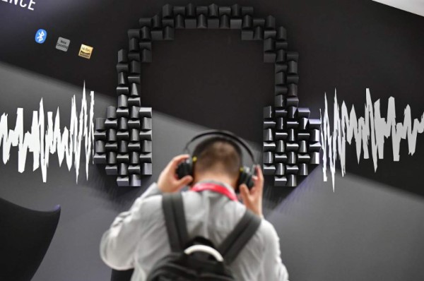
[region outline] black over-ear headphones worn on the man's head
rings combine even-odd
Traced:
[[[252,159],[252,162],[254,163],[252,169],[247,166],[240,167],[240,174],[237,180],[237,186],[236,190],[240,186],[240,184],[246,184],[246,186],[251,189],[254,185],[253,182],[253,175],[255,172],[254,166],[256,165],[256,161],[254,159],[254,155],[252,152],[252,148],[245,142],[245,140],[242,140],[238,136],[236,136],[234,133],[231,133],[229,131],[221,131],[221,130],[211,130],[211,131],[204,131],[202,133],[197,134],[194,136],[189,142],[186,144],[184,150],[189,152],[189,145],[194,142],[194,140],[197,140],[199,138],[203,138],[204,136],[222,136],[223,138],[230,140],[231,143],[237,145],[237,147],[245,148],[247,153],[249,154],[249,157]],[[240,149],[241,150],[241,149]],[[182,179],[183,177],[187,175],[193,176],[194,172],[194,163],[197,160],[198,155],[190,155],[190,157],[185,160],[184,162],[179,163],[177,167],[177,176],[179,179]]]

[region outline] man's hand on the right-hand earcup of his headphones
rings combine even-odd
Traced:
[[[246,184],[240,185],[240,196],[242,197],[243,204],[246,208],[253,213],[264,217],[262,215],[262,195],[264,193],[264,174],[262,174],[261,166],[257,165],[256,176],[253,176],[254,185],[252,189],[248,189]]]

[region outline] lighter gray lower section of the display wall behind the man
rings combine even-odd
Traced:
[[[16,108],[23,107],[28,128],[41,98],[46,112],[59,105],[61,126],[69,124],[71,96],[76,95],[79,107],[82,85],[6,64],[0,64],[0,77],[1,112],[9,114],[10,127]],[[22,93],[27,94],[25,100]],[[113,98],[96,92],[95,115],[101,116],[112,102]],[[160,112],[153,114],[153,177],[144,181],[143,188],[158,177],[170,157],[181,152],[189,136],[204,129]],[[43,184],[40,169],[32,172],[30,157],[25,172],[18,173],[16,153],[12,149],[11,162],[0,165],[0,197],[40,210],[62,207],[57,232],[33,280],[108,280],[110,269],[98,253],[101,234],[143,188],[119,189],[94,165],[88,181],[80,170],[76,184],[73,169],[59,168],[56,155],[51,156]],[[323,182],[319,167],[284,201],[276,198],[275,189],[266,189],[266,218],[280,236],[291,280],[422,280],[423,200],[352,175],[336,177],[336,182],[333,192],[331,184]]]

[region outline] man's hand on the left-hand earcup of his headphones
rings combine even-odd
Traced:
[[[192,176],[185,176],[182,179],[178,179],[176,174],[179,163],[183,162],[188,157],[190,157],[190,155],[184,154],[172,158],[165,169],[163,169],[163,171],[160,173],[158,179],[158,188],[160,191],[165,193],[179,191],[184,186],[187,186],[187,184],[193,181]]]

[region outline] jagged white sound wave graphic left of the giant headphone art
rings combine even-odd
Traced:
[[[84,147],[86,148],[86,179],[88,179],[88,162],[93,157],[91,145],[94,141],[94,92],[90,92],[90,118],[87,114],[86,102],[86,83],[83,87],[83,98],[81,102],[81,111],[76,111],[75,95],[71,100],[71,122],[69,129],[64,128],[63,133],[60,129],[59,107],[53,123],[53,113],[47,112],[47,130],[45,130],[45,112],[42,99],[40,100],[40,109],[33,111],[33,124],[31,131],[23,133],[23,108],[18,108],[16,112],[15,129],[8,129],[8,114],[2,114],[0,119],[0,145],[3,145],[3,162],[6,164],[10,157],[11,146],[18,147],[18,172],[25,171],[25,162],[28,150],[33,153],[33,171],[40,167],[42,171],[42,181],[47,181],[47,166],[49,166],[49,154],[57,153],[59,166],[66,155],[66,165],[69,171],[73,164],[76,171],[76,182],[78,183],[78,171],[81,155],[81,141],[84,138]],[[1,142],[3,140],[3,142]],[[75,156],[73,158],[73,156]]]

